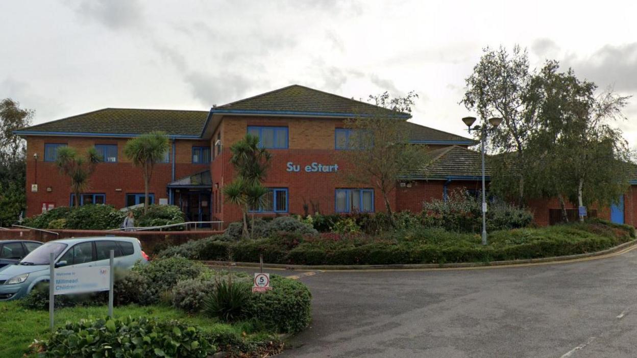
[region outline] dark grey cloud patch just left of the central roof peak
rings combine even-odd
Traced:
[[[248,89],[257,85],[253,78],[233,73],[209,75],[194,71],[184,77],[193,96],[205,106],[225,104],[245,97]]]

